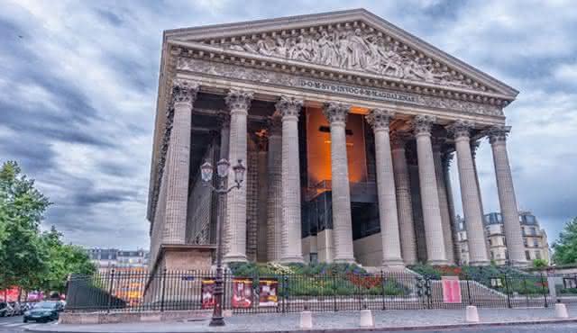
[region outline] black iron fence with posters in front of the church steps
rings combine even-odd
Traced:
[[[563,302],[577,303],[577,276],[571,279],[561,278],[555,290]],[[214,284],[215,272],[200,271],[71,276],[66,311],[212,309]],[[438,280],[410,272],[224,274],[223,307],[236,313],[547,307],[552,302],[546,275]]]

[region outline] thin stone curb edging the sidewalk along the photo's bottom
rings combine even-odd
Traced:
[[[288,330],[259,330],[256,333],[353,333],[353,332],[400,332],[400,331],[415,331],[415,330],[430,330],[430,329],[471,329],[471,328],[490,328],[490,327],[503,327],[503,326],[515,326],[515,325],[547,325],[547,324],[564,324],[564,323],[577,323],[577,319],[567,319],[567,320],[527,320],[527,321],[506,321],[506,322],[481,322],[481,323],[463,323],[463,324],[446,324],[446,325],[430,325],[430,326],[405,326],[405,327],[376,327],[376,328],[351,328],[351,329],[288,329]],[[35,332],[35,333],[53,333],[53,332],[66,332],[66,333],[127,333],[125,330],[42,330],[40,328],[25,329],[25,332]],[[161,331],[147,331],[146,333],[167,333],[167,330]],[[214,330],[206,330],[204,332],[215,332]],[[204,333],[203,331],[190,331],[189,333]],[[223,333],[247,333],[249,330],[230,330],[221,331]],[[185,331],[179,331],[179,333],[187,333]]]

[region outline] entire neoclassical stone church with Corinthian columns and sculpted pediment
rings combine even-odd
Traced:
[[[165,31],[151,163],[151,269],[224,261],[489,264],[475,149],[488,139],[508,239],[527,263],[503,109],[518,92],[363,9]],[[243,160],[219,197],[200,166]]]

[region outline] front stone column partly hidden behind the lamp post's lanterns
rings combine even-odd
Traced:
[[[224,101],[231,112],[231,130],[228,160],[234,166],[239,159],[247,166],[247,116],[251,107],[252,92],[231,90]],[[246,174],[245,174],[246,175]],[[234,177],[231,167],[230,177]],[[246,182],[226,197],[226,220],[229,244],[224,262],[246,261]]]

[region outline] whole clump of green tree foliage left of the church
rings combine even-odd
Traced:
[[[69,274],[95,272],[82,249],[62,244],[56,229],[41,233],[50,204],[15,162],[0,168],[0,289],[62,292]]]

